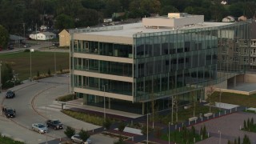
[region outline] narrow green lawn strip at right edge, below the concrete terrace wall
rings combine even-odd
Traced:
[[[219,102],[219,93],[214,92],[214,102]],[[221,102],[239,106],[256,107],[256,94],[244,95],[233,93],[222,93]]]

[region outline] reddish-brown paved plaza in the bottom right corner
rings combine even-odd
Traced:
[[[245,134],[250,138],[250,142],[254,143],[256,142],[256,133],[240,130],[243,127],[244,120],[247,121],[248,118],[254,118],[255,121],[256,114],[238,112],[197,124],[195,125],[196,130],[200,130],[202,126],[206,126],[206,130],[210,134],[210,138],[197,143],[216,144],[219,143],[220,138],[220,143],[227,143],[228,140],[234,142],[234,138],[238,139],[238,137],[241,138],[242,142]]]

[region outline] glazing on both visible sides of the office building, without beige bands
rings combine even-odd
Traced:
[[[138,33],[133,35],[133,45],[74,38],[71,42],[70,67],[81,72],[74,74],[71,71],[73,89],[104,91],[102,87],[106,86],[108,94],[132,97],[130,102],[136,107],[138,103],[150,106],[148,102],[155,99],[163,110],[170,106],[170,98],[174,95],[189,102],[194,91],[197,100],[203,99],[205,86],[246,71],[250,59],[250,22]],[[74,57],[75,53],[101,58]],[[111,58],[132,59],[132,62],[117,62]],[[84,72],[90,74],[84,75]],[[101,74],[130,78],[132,82],[121,77],[102,78]],[[102,106],[102,95],[83,93],[83,96],[87,105]],[[113,104],[111,109],[116,107],[118,110],[119,107],[126,111],[125,107],[114,105],[118,102],[130,105],[122,98],[109,101]],[[137,108],[141,109],[140,106]]]

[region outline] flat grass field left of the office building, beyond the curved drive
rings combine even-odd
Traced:
[[[65,70],[70,68],[70,54],[56,52],[56,70]],[[18,52],[11,54],[0,54],[2,63],[10,63],[15,74],[18,74],[20,80],[30,78],[30,52]],[[32,77],[39,74],[47,74],[50,70],[54,74],[54,52],[34,51],[31,53],[31,71]]]

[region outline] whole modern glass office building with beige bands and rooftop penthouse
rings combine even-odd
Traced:
[[[138,114],[205,98],[235,84],[250,59],[250,22],[203,22],[168,14],[142,22],[70,30],[71,90],[85,105]]]

